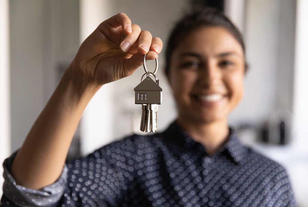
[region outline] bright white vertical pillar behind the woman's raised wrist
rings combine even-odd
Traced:
[[[80,0],[80,42],[109,18],[112,1]],[[114,140],[112,88],[104,85],[88,104],[80,124],[81,153],[88,154]]]

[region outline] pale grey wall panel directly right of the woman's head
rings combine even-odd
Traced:
[[[249,71],[245,94],[230,123],[260,126],[275,111],[279,1],[246,1],[244,39]]]

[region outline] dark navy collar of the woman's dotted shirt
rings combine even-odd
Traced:
[[[247,155],[248,148],[245,147],[238,140],[237,134],[233,128],[229,128],[229,136],[227,143],[219,148],[214,154],[219,156],[221,154],[227,153],[229,157],[237,164],[241,164],[243,158]],[[163,132],[167,135],[168,139],[171,138],[173,143],[184,146],[185,148],[190,148],[196,145],[201,145],[198,142],[195,142],[188,134],[188,132],[184,131],[179,124],[174,121],[169,128]],[[170,140],[170,141],[171,141]],[[203,149],[203,146],[199,146],[199,149]]]

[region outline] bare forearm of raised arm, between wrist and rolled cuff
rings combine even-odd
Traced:
[[[57,180],[68,148],[88,102],[99,89],[67,71],[49,99],[12,164],[16,182],[39,189]]]

